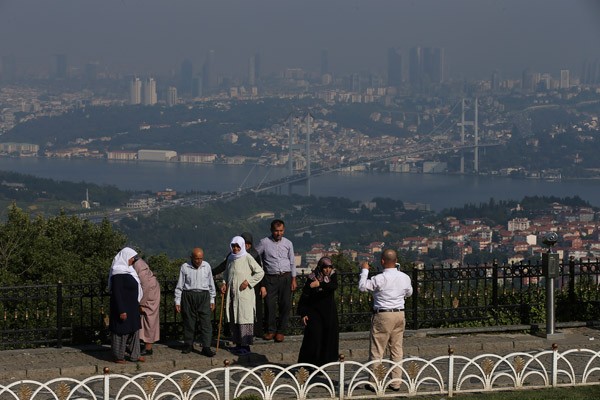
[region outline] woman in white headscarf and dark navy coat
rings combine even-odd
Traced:
[[[143,292],[140,278],[133,268],[136,257],[135,250],[125,247],[113,259],[108,275],[111,349],[114,362],[119,364],[126,362],[126,355],[133,362],[145,361],[140,356],[140,300]]]

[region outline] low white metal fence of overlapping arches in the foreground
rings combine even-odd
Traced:
[[[0,400],[231,400],[231,399],[359,399],[447,395],[525,390],[544,387],[599,385],[600,351],[570,349],[473,358],[453,354],[360,363],[344,361],[320,368],[310,364],[265,364],[254,368],[225,364],[200,372],[144,372],[85,379],[20,380],[0,385]],[[392,378],[400,368],[401,382]],[[400,385],[399,390],[392,387]],[[369,389],[367,389],[370,388]]]

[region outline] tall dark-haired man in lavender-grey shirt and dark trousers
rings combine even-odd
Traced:
[[[265,270],[267,331],[265,340],[283,342],[292,308],[292,292],[296,290],[294,245],[283,237],[285,224],[280,219],[271,222],[271,236],[256,245]],[[279,315],[275,313],[279,309]],[[279,317],[279,318],[277,318]],[[260,322],[259,322],[260,323]]]

